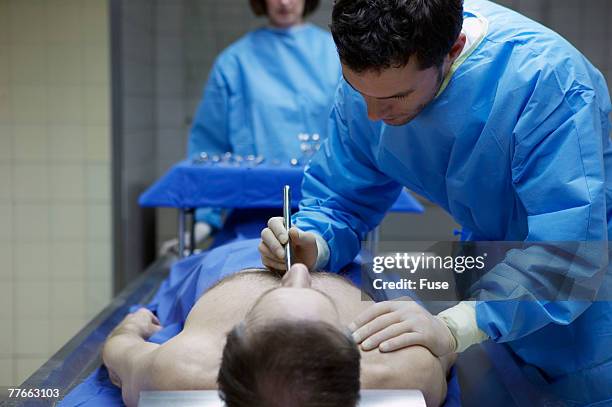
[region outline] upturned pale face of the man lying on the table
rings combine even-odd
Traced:
[[[294,264],[280,286],[265,292],[246,317],[247,326],[274,320],[308,320],[340,326],[334,301],[312,288],[312,277],[303,264]]]

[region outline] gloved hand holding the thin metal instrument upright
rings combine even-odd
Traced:
[[[287,244],[289,238],[293,249],[292,262],[303,263],[312,271],[317,264],[318,256],[315,234],[292,227],[289,230],[289,235],[287,235],[285,220],[280,216],[270,218],[268,227],[261,231],[259,253],[264,266],[274,270],[287,271],[284,245]]]

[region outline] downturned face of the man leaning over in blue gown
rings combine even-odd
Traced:
[[[420,70],[415,58],[401,68],[356,73],[342,66],[349,85],[363,96],[370,120],[402,126],[431,102],[444,79],[444,67]]]

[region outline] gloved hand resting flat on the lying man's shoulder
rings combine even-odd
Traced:
[[[413,345],[442,357],[455,352],[457,343],[444,321],[415,301],[385,301],[362,312],[349,329],[363,350],[392,352]]]

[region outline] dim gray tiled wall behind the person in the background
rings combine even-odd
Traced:
[[[582,50],[612,85],[612,1],[501,0],[557,30]],[[215,57],[247,30],[265,24],[246,0],[129,0],[119,16],[123,58],[113,77],[121,80],[114,105],[116,144],[123,148],[118,172],[120,209],[116,238],[122,247],[116,265],[130,275],[141,270],[159,244],[176,233],[176,215],[155,211],[155,222],[135,204],[138,194],[184,157],[187,135]],[[118,7],[118,6],[116,6]],[[332,0],[322,0],[311,21],[327,27]],[[115,19],[117,20],[117,18]],[[115,72],[119,70],[120,72]],[[120,75],[122,73],[122,75]],[[118,76],[117,76],[118,75]],[[424,216],[390,215],[382,237],[449,239],[456,225],[428,203]],[[123,224],[121,222],[124,222]],[[154,226],[153,226],[154,225]],[[154,238],[154,239],[152,239]],[[153,241],[154,240],[154,241]],[[155,246],[155,248],[154,248]],[[117,249],[116,249],[117,252]],[[122,255],[123,253],[123,255]],[[125,254],[129,253],[129,256]]]

